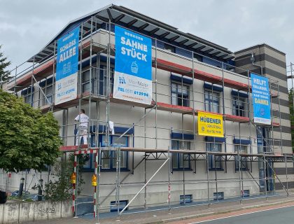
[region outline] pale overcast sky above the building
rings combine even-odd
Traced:
[[[294,62],[293,0],[0,0],[0,45],[10,68],[45,46],[70,20],[114,3],[231,51],[267,43]]]

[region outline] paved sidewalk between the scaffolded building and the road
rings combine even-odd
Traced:
[[[286,196],[277,196],[277,197],[268,197],[258,198],[253,200],[243,200],[240,202],[222,202],[217,204],[208,205],[197,205],[195,207],[183,207],[180,209],[172,209],[171,213],[168,214],[168,210],[163,211],[149,211],[144,213],[137,214],[125,214],[120,216],[118,219],[116,216],[111,218],[101,218],[99,223],[101,224],[113,224],[113,223],[130,223],[130,224],[155,224],[155,223],[169,223],[172,221],[181,221],[187,218],[197,218],[200,216],[208,216],[213,214],[222,214],[230,211],[238,211],[244,209],[252,209],[257,207],[267,207],[273,204],[283,204],[286,202],[294,202],[294,195]],[[40,221],[29,224],[44,223],[44,224],[81,224],[89,223],[95,224],[98,223],[97,220],[88,218],[62,218],[49,221]]]

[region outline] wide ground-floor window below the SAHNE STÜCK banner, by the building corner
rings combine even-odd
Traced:
[[[113,144],[113,146],[123,146],[127,147],[128,137],[119,136],[109,136],[109,143]],[[106,135],[103,134],[100,136],[99,144],[101,143],[102,147],[106,146]],[[102,151],[102,170],[116,170],[116,151]],[[120,169],[127,169],[127,161],[128,161],[128,153],[120,152]]]

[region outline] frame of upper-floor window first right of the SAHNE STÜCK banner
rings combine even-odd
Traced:
[[[173,91],[173,85],[176,85],[176,91]],[[179,87],[180,86],[180,87]],[[187,93],[183,93],[183,88],[182,86],[184,87],[187,87]],[[179,92],[179,89],[181,89],[181,92]],[[176,94],[176,96],[174,97],[173,94]],[[179,97],[180,96],[180,97]],[[187,97],[187,98],[184,98]],[[176,104],[174,104],[174,99],[176,100]],[[174,80],[171,80],[171,104],[172,105],[176,105],[176,106],[186,106],[188,107],[189,106],[189,103],[190,103],[190,85],[186,84],[186,83],[179,83],[179,82],[176,82]],[[181,104],[179,104],[179,102],[181,102]],[[185,103],[186,102],[186,103]]]

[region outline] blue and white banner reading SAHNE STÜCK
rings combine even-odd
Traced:
[[[141,104],[152,101],[151,38],[121,27],[116,32],[113,97]]]

